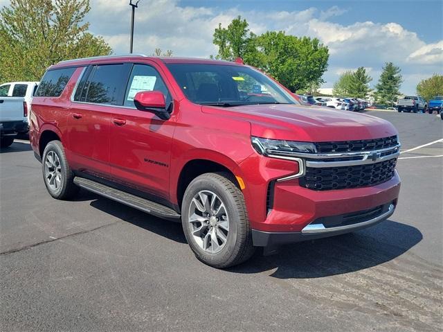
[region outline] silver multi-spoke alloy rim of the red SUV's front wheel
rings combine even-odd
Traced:
[[[191,233],[201,249],[215,254],[228,240],[229,220],[221,198],[212,191],[199,191],[189,207]]]

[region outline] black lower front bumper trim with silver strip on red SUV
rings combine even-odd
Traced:
[[[375,209],[346,213],[339,216],[323,217],[314,220],[301,231],[270,232],[252,230],[253,244],[257,247],[275,247],[288,243],[316,240],[358,231],[386,220],[395,211],[396,202],[383,204]],[[375,210],[375,211],[374,211]],[[352,218],[352,215],[354,218]],[[351,222],[349,220],[352,220]]]

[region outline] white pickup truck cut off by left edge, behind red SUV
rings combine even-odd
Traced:
[[[28,110],[38,82],[0,85],[0,147],[7,148],[17,133],[28,132]]]

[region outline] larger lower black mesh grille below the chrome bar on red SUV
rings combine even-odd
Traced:
[[[300,186],[318,191],[374,186],[392,179],[396,162],[393,158],[356,166],[307,167],[305,176],[300,178]]]

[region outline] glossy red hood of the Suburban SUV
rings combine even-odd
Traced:
[[[203,107],[251,123],[251,135],[291,141],[353,141],[397,134],[394,126],[368,114],[305,105],[245,105]]]

